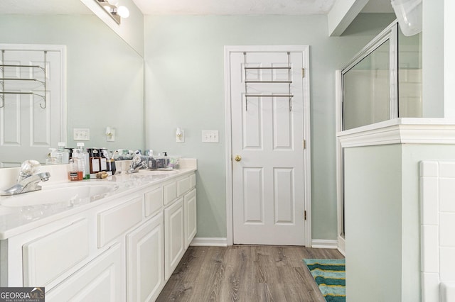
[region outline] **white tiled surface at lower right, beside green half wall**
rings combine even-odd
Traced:
[[[420,162],[422,301],[455,301],[455,162]]]

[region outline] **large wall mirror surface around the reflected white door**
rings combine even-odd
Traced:
[[[74,129],[82,128],[90,130],[86,147],[144,148],[144,59],[80,0],[0,1],[0,44],[65,45],[68,147],[76,146]],[[114,141],[107,127],[115,129]],[[0,167],[14,167],[1,144]],[[47,156],[33,148],[21,152],[22,160]]]

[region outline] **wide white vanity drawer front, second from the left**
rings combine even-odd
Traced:
[[[97,247],[125,233],[142,220],[142,198],[111,208],[97,214]]]

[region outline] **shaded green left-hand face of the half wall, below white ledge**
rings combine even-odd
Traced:
[[[344,150],[348,301],[400,301],[401,152],[400,145]]]

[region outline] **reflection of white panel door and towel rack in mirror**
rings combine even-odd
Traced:
[[[4,46],[0,50],[8,48]],[[44,50],[9,47],[0,52],[0,65],[11,65],[0,69],[0,91],[36,94],[0,92],[0,164],[4,167],[17,166],[31,155],[44,162],[48,149],[66,137],[63,50]]]

